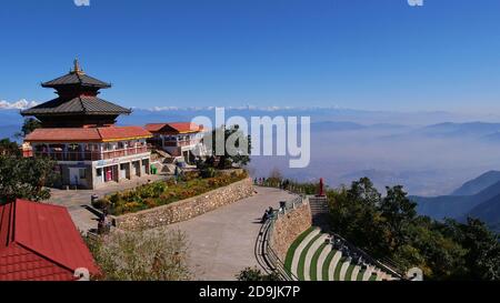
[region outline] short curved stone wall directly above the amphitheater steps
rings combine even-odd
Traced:
[[[277,219],[272,231],[271,248],[282,262],[284,262],[288,249],[293,241],[307,231],[311,224],[311,209],[308,202],[304,202],[286,214],[281,214]]]

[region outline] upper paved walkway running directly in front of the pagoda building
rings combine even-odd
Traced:
[[[59,190],[51,189],[51,198],[46,203],[66,206],[73,219],[74,224],[80,231],[87,232],[97,229],[98,216],[92,213],[88,206],[90,205],[90,196],[92,194],[102,198],[107,194],[134,189],[141,184],[149,182],[166,180],[170,176],[162,174],[150,174],[134,180],[126,180],[120,183],[110,183],[106,188],[98,190]]]

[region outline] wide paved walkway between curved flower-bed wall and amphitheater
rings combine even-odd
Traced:
[[[258,266],[256,239],[264,211],[279,208],[291,194],[256,188],[258,194],[186,222],[166,226],[184,231],[189,239],[189,265],[197,280],[231,281],[248,266]]]

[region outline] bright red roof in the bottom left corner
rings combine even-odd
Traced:
[[[66,208],[0,205],[0,281],[73,281],[77,269],[100,272]]]

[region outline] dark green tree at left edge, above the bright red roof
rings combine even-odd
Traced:
[[[46,186],[56,179],[54,165],[46,158],[0,155],[0,203],[49,199],[50,190]]]

